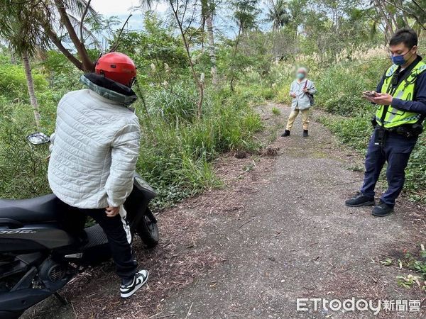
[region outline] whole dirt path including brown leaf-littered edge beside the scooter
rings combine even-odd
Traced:
[[[272,107],[262,108],[270,133],[289,113],[280,107],[282,114],[273,116]],[[362,179],[348,168],[362,159],[318,123],[312,122],[310,138],[301,133],[298,118],[292,136],[271,145],[278,155],[221,159],[217,172],[224,189],[160,215],[160,247],[138,254],[151,271],[138,298],[120,301],[107,267],[64,292],[70,307],[50,301],[28,316],[55,311],[56,318],[373,317],[367,311],[296,311],[296,298],[315,297],[420,300],[422,313],[379,316],[425,315],[426,294],[417,285],[396,284],[396,276],[410,272],[380,263],[425,243],[425,208],[400,199],[388,218],[373,218],[371,208],[346,208],[345,198]]]

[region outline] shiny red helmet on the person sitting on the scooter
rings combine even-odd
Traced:
[[[99,57],[94,70],[97,74],[101,74],[107,79],[129,87],[136,79],[135,63],[130,57],[120,52],[111,52]]]

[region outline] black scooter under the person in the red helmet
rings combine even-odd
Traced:
[[[33,133],[34,145],[50,142],[48,135]],[[124,203],[132,235],[148,248],[158,245],[157,220],[148,207],[156,194],[138,174]],[[107,236],[99,225],[70,233],[63,217],[70,207],[54,194],[22,199],[0,199],[0,318],[15,319],[55,294],[88,266],[111,258]]]

